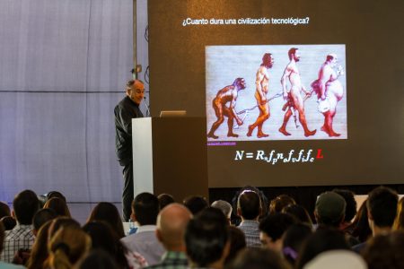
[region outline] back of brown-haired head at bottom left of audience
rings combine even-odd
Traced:
[[[48,242],[48,267],[70,268],[92,246],[92,240],[82,229],[63,227]]]

